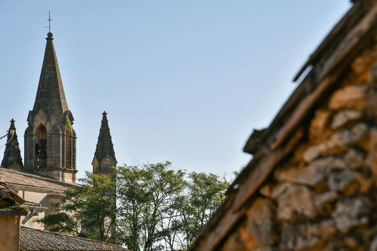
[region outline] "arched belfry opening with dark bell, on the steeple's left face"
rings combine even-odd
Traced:
[[[37,168],[47,167],[47,129],[41,123],[35,130],[35,160]]]

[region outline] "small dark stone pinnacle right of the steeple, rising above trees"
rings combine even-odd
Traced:
[[[98,136],[97,148],[92,161],[93,173],[112,172],[110,167],[118,163],[115,158],[113,142],[111,140],[109,121],[106,112],[102,113],[100,135]]]

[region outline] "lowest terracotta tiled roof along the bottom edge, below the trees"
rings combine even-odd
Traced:
[[[109,243],[21,226],[20,251],[126,251]]]

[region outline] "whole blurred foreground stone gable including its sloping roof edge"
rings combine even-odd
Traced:
[[[190,250],[377,250],[377,1],[353,2]]]

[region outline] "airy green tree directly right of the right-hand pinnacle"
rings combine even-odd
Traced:
[[[124,165],[117,174],[118,229],[125,236],[124,243],[135,251],[162,250],[163,240],[172,227],[169,220],[176,194],[186,187],[184,170],[174,170],[166,161]],[[172,250],[175,240],[171,244]]]

